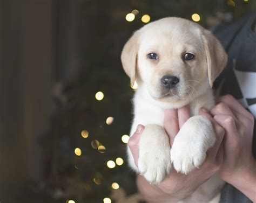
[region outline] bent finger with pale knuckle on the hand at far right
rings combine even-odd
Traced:
[[[237,145],[239,137],[233,117],[227,115],[216,115],[213,118],[225,129],[225,144],[228,144],[228,147],[231,148],[232,146]]]

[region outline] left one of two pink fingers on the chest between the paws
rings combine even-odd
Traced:
[[[178,110],[168,109],[164,114],[164,128],[169,136],[170,146],[174,141],[175,136],[179,132]]]

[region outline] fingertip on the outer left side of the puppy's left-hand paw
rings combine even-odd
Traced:
[[[138,125],[136,131],[130,137],[127,143],[127,145],[129,146],[132,152],[134,163],[137,167],[138,167],[138,158],[139,158],[139,139],[140,139],[140,136],[142,135],[144,128],[145,127],[143,125]]]

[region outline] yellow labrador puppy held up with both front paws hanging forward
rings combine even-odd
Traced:
[[[189,173],[199,167],[215,142],[211,122],[198,115],[199,109],[214,106],[212,83],[224,69],[227,55],[219,41],[190,20],[168,17],[143,26],[125,44],[123,68],[136,80],[134,120],[145,125],[139,141],[138,168],[128,149],[130,166],[150,183],[160,183],[176,171]],[[170,148],[163,128],[164,110],[190,104],[191,115]],[[223,181],[207,181],[215,190]],[[214,188],[214,189],[213,189]]]

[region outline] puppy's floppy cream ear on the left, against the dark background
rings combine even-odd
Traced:
[[[125,73],[131,79],[131,87],[134,85],[136,76],[136,59],[139,49],[139,31],[134,32],[133,36],[124,45],[121,61]]]

